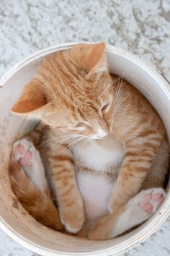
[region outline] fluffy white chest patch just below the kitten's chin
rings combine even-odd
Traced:
[[[76,162],[94,171],[120,166],[124,156],[122,144],[111,135],[101,140],[78,143],[72,148]]]

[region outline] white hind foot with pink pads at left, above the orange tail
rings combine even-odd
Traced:
[[[12,158],[19,162],[30,181],[41,190],[46,189],[46,178],[40,153],[32,142],[22,139],[13,145]]]

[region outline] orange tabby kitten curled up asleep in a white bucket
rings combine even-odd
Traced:
[[[109,73],[104,43],[79,44],[45,58],[12,111],[48,127],[42,151],[61,222],[32,142],[14,144],[20,166],[10,166],[15,194],[45,225],[61,230],[63,223],[71,233],[110,239],[161,205],[169,158],[164,124],[138,90]],[[33,136],[35,145],[39,137]],[[38,203],[31,200],[35,195]]]

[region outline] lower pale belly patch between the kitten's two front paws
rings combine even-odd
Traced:
[[[84,199],[84,208],[88,220],[96,220],[109,213],[107,205],[114,182],[99,174],[78,171],[77,184]]]

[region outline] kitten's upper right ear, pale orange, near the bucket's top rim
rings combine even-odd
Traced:
[[[102,74],[108,72],[106,59],[106,46],[104,43],[82,44],[81,59],[83,66],[88,72],[86,78],[91,74]]]

